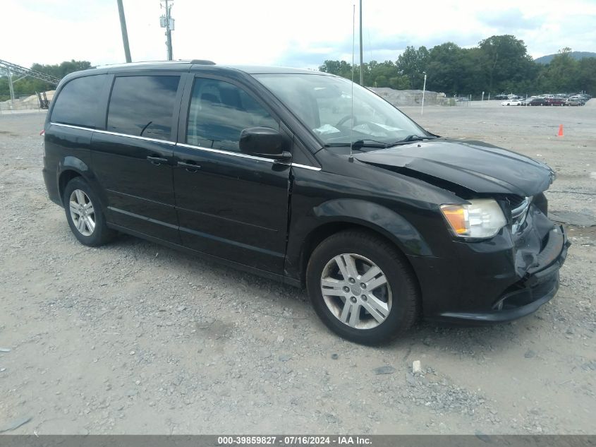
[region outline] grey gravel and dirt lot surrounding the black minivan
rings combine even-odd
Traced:
[[[44,189],[44,114],[0,115],[0,431],[594,434],[594,102],[403,109],[557,169],[573,246],[533,316],[382,348],[329,333],[301,290],[133,237],[78,244]]]

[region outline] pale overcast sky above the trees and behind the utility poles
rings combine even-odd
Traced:
[[[133,61],[166,59],[159,0],[123,0]],[[174,59],[316,68],[351,61],[355,0],[175,0]],[[596,51],[596,0],[363,0],[365,61],[395,61],[408,45],[471,47],[522,39],[533,57]],[[2,0],[0,59],[31,66],[124,61],[116,0]],[[358,60],[358,21],[356,22]]]

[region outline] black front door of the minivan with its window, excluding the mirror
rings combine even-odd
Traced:
[[[218,79],[195,78],[189,101],[174,154],[182,243],[283,273],[290,166],[238,150],[243,129],[279,129],[279,121],[240,85]]]

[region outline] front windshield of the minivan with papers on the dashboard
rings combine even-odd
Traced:
[[[345,78],[317,74],[253,75],[278,97],[324,145],[368,141],[391,144],[428,136],[418,124],[366,88]]]

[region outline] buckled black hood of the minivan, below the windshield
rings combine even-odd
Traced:
[[[415,141],[354,158],[403,174],[425,174],[477,193],[534,196],[554,180],[545,163],[480,141]]]

